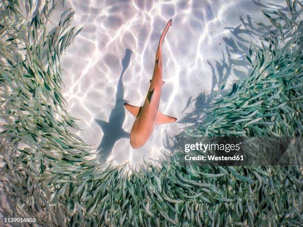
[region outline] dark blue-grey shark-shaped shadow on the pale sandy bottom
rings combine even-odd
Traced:
[[[126,102],[124,100],[124,87],[122,77],[129,66],[131,54],[132,51],[130,49],[126,49],[125,55],[121,62],[123,69],[118,81],[116,103],[115,107],[110,112],[108,122],[95,119],[95,121],[103,131],[101,142],[97,148],[98,154],[100,155],[100,163],[105,162],[105,160],[108,158],[117,140],[119,140],[120,138],[129,137],[129,133],[125,132],[122,129],[122,125],[125,119],[124,103]]]

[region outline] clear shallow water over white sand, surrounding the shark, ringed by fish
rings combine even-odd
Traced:
[[[68,110],[82,119],[79,136],[102,149],[101,161],[108,157],[116,164],[142,164],[144,158],[157,160],[169,152],[170,138],[197,121],[195,109],[205,105],[207,94],[245,76],[248,62],[232,60],[241,59],[251,36],[240,17],[247,27],[261,22],[265,2],[67,1],[75,10],[73,24],[83,27],[62,57]],[[156,125],[149,141],[133,149],[128,133],[135,118],[123,104],[143,104],[159,38],[171,18],[163,43],[165,85],[159,111],[178,121]]]

